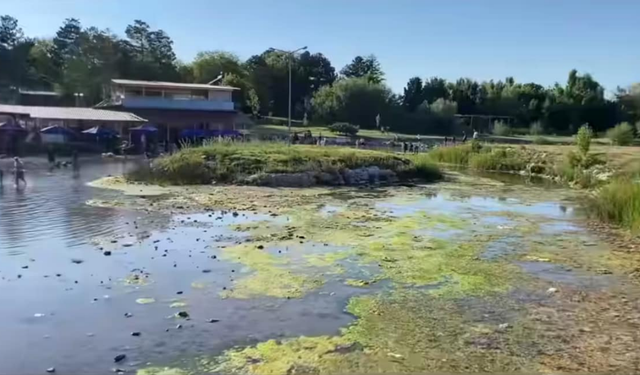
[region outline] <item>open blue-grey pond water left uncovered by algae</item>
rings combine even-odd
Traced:
[[[201,212],[169,217],[125,209],[91,207],[89,199],[109,200],[119,193],[86,186],[100,176],[121,174],[131,164],[86,161],[79,177],[70,170],[53,174],[28,165],[29,185],[16,190],[6,184],[0,193],[0,373],[112,373],[146,363],[166,364],[234,345],[270,338],[337,334],[354,317],[344,311],[349,298],[389,287],[345,285],[344,278],[366,278],[377,272],[345,259],[346,275],[329,275],[321,288],[300,299],[260,297],[223,299],[220,293],[252,271],[221,260],[224,246],[242,243],[249,235],[235,225],[283,222],[251,212]],[[574,210],[566,203],[535,202],[502,196],[460,198],[448,193],[419,199],[375,199],[387,215],[446,214],[466,219],[467,227],[426,228],[422,233],[454,240],[462,234],[490,228],[496,233],[483,256],[508,256],[522,250],[521,225],[508,213],[530,215],[542,222],[542,236],[583,236]],[[336,197],[349,196],[336,190]],[[120,197],[121,198],[121,197]],[[345,211],[322,206],[324,217]],[[576,233],[577,232],[577,233]],[[582,238],[582,237],[580,237]],[[111,256],[103,251],[111,251]],[[286,256],[295,266],[301,254],[344,250],[307,242],[296,252],[266,248]],[[75,261],[75,262],[74,262]],[[536,277],[571,285],[606,285],[607,278],[566,272],[548,263],[521,262]],[[137,276],[136,276],[137,275]],[[139,299],[153,299],[149,304]],[[172,304],[184,305],[172,307]],[[188,311],[189,320],[173,316]],[[133,314],[125,317],[125,313]],[[216,322],[210,323],[210,319]],[[181,325],[181,328],[178,328]],[[131,332],[141,332],[139,337]],[[113,358],[126,354],[115,364]]]

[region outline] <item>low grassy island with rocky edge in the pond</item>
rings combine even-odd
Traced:
[[[154,161],[151,168],[129,174],[134,181],[169,185],[238,183],[255,174],[302,172],[335,175],[344,169],[379,167],[400,179],[426,181],[441,177],[424,155],[396,156],[387,152],[347,147],[286,146],[282,143],[212,143],[190,147]]]

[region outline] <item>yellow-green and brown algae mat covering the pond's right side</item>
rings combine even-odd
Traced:
[[[301,200],[292,190],[269,190],[256,212],[271,215],[232,223],[241,240],[210,244],[232,268],[230,284],[213,298],[230,306],[261,301],[286,321],[289,306],[309,304],[303,311],[311,314],[318,298],[335,295],[351,323],[309,336],[283,326],[282,335],[139,373],[633,368],[627,358],[640,349],[633,338],[640,313],[620,301],[640,294],[624,281],[625,262],[581,230],[579,218],[563,210],[566,202],[537,190],[501,191],[498,199],[473,191],[465,197],[460,187],[397,189],[302,190]],[[211,287],[196,280],[192,288]]]

